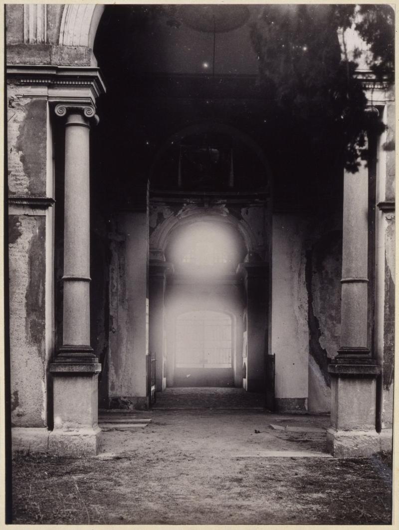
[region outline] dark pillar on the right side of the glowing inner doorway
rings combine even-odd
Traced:
[[[240,263],[247,294],[247,391],[265,392],[265,356],[268,349],[268,265],[262,261]]]

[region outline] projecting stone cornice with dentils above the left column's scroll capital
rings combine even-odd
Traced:
[[[76,66],[7,65],[7,78],[21,85],[85,88],[94,98],[106,92],[99,68]]]

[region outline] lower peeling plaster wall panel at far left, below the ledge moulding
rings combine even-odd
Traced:
[[[9,216],[12,424],[46,426],[46,217]]]

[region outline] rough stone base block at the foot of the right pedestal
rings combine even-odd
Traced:
[[[337,458],[371,456],[380,450],[380,435],[375,430],[327,429],[327,451]]]

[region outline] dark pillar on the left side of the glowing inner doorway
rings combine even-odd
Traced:
[[[164,364],[166,351],[165,336],[165,286],[167,273],[172,265],[165,261],[150,261],[149,273],[149,351],[152,358],[157,360],[157,391],[166,388],[166,373]]]

